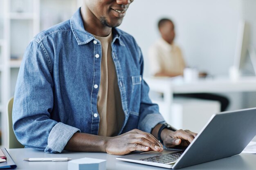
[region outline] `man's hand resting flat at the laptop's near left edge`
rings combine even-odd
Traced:
[[[109,154],[125,155],[134,150],[162,152],[163,146],[153,135],[138,129],[106,139],[106,152]]]

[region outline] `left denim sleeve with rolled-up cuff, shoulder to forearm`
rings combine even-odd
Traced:
[[[51,119],[52,59],[33,40],[20,66],[13,103],[13,130],[22,145],[49,153],[62,152],[78,128]]]

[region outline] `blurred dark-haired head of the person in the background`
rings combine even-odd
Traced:
[[[175,38],[173,21],[168,18],[163,18],[159,20],[158,29],[160,31],[162,38],[169,44],[172,44]]]

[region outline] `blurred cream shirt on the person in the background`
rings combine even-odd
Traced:
[[[160,72],[183,74],[185,62],[179,46],[168,44],[161,38],[150,47],[148,56],[151,75]]]

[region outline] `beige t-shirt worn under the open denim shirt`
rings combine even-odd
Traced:
[[[112,59],[112,33],[107,37],[94,37],[101,42],[101,83],[97,98],[100,117],[100,136],[116,136],[124,124],[124,111],[117,84],[117,73]]]

